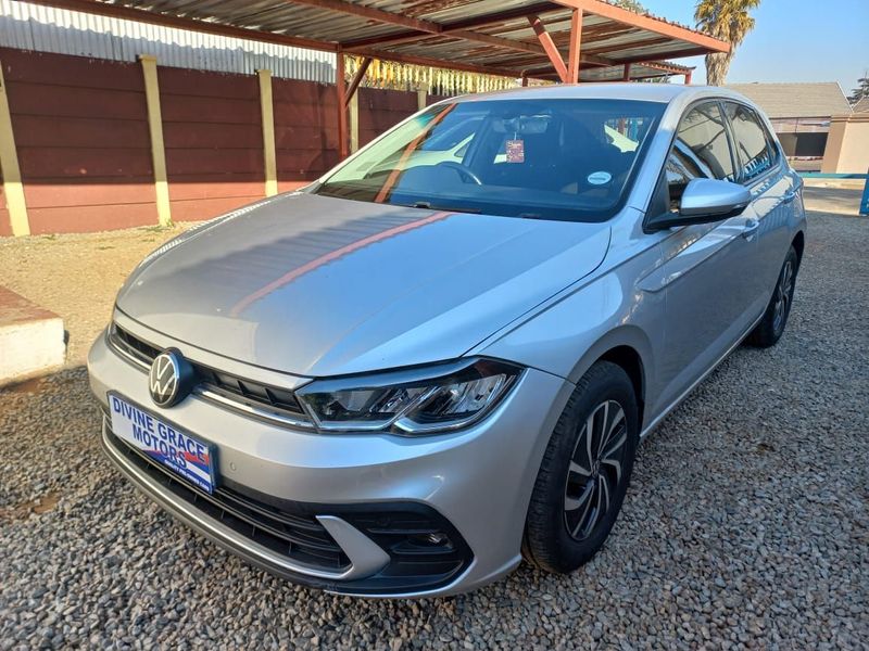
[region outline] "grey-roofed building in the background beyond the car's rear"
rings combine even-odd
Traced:
[[[727,88],[764,110],[791,165],[802,171],[820,170],[831,118],[852,114],[851,104],[835,81],[728,84]]]

